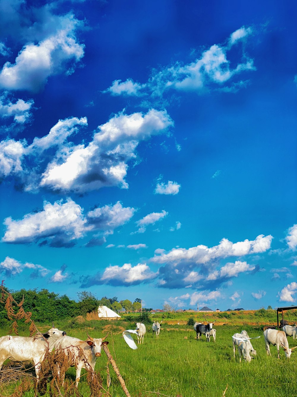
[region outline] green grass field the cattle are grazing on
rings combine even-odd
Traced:
[[[182,320],[179,320],[180,322]],[[163,321],[164,323],[164,321]],[[109,325],[106,321],[92,321],[73,328],[70,324],[66,328],[62,324],[55,324],[59,329],[65,329],[67,335],[86,339],[86,331],[92,337],[105,336],[111,331],[107,340],[109,350],[120,369],[131,396],[182,396],[196,397],[199,395],[226,397],[261,396],[276,397],[295,395],[297,390],[296,364],[297,354],[292,354],[288,360],[284,351],[280,351],[278,360],[276,347],[271,347],[272,357],[265,351],[263,331],[259,326],[246,323],[242,325],[217,325],[216,342],[207,343],[205,337],[196,340],[196,333],[191,326],[177,324],[163,324],[159,339],[148,332],[144,344],[137,350],[132,350],[125,343],[122,336],[123,329],[131,329],[131,322],[123,320]],[[43,327],[42,330],[45,330]],[[150,327],[147,327],[149,329]],[[233,357],[231,336],[235,332],[246,329],[250,337],[261,335],[260,339],[252,341],[257,356],[251,363],[239,363],[238,353]],[[7,334],[0,330],[1,335]],[[24,334],[24,333],[23,333]],[[187,337],[187,339],[185,339]],[[136,339],[136,336],[135,336]],[[289,346],[297,345],[297,340],[288,338]],[[296,342],[296,343],[295,343]],[[95,370],[100,372],[103,387],[107,388],[107,356],[97,358]],[[84,370],[83,372],[84,373]],[[111,384],[109,393],[112,397],[124,396],[124,391],[110,365]],[[70,368],[66,377],[74,382],[75,369]],[[13,386],[3,386],[1,395],[11,395]],[[78,387],[81,395],[89,396],[89,389],[85,377],[82,377]],[[33,391],[24,394],[33,396]]]

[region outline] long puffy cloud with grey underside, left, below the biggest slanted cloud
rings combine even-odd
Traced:
[[[95,234],[86,247],[102,245],[106,242],[104,235],[112,234],[116,227],[124,225],[133,216],[134,208],[123,207],[120,202],[96,208],[84,215],[83,209],[73,200],[59,200],[51,204],[44,202],[43,210],[26,214],[23,219],[4,220],[6,232],[4,243],[37,243],[51,247],[72,247],[77,239],[87,233]]]

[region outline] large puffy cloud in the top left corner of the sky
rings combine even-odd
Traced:
[[[25,44],[15,63],[6,62],[0,71],[0,87],[7,90],[39,91],[51,75],[73,72],[84,56],[84,44],[76,39],[80,26],[72,14],[61,17],[61,28],[44,40]],[[69,65],[69,63],[71,63]]]

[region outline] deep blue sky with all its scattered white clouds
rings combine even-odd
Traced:
[[[294,2],[0,10],[8,288],[297,303]]]

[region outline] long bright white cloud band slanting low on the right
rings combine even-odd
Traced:
[[[197,247],[173,248],[167,254],[155,255],[150,260],[155,263],[195,263],[206,264],[210,260],[227,258],[228,256],[242,256],[257,252],[265,252],[270,248],[272,236],[259,235],[253,241],[241,241],[232,243],[228,239],[222,239],[219,245],[208,248],[206,245],[198,245]]]

